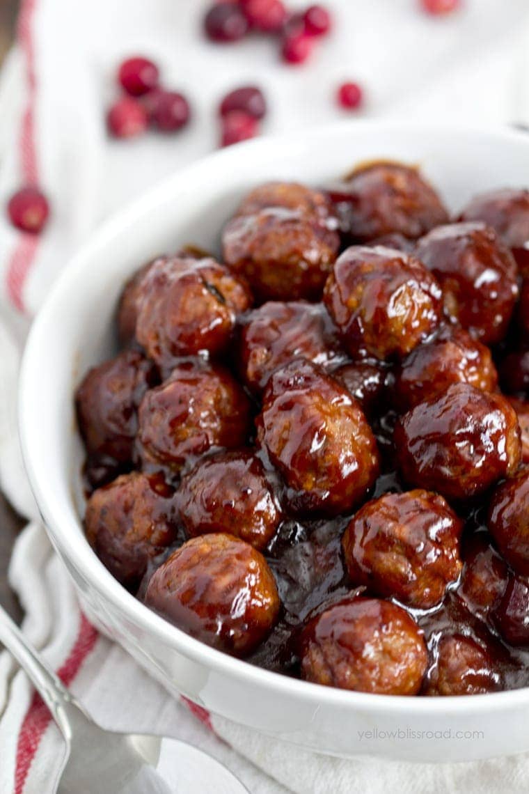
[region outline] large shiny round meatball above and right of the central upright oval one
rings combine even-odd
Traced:
[[[336,260],[324,303],[353,358],[403,357],[435,330],[441,290],[412,256],[353,246]]]

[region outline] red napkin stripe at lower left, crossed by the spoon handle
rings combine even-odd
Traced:
[[[75,679],[82,663],[94,648],[97,638],[97,630],[81,612],[77,639],[67,660],[57,671],[57,675],[63,681],[63,684],[69,686]],[[29,768],[51,719],[52,715],[48,711],[48,707],[46,707],[40,695],[35,692],[18,737],[14,794],[22,794],[24,791]]]

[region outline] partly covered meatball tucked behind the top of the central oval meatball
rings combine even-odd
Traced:
[[[241,367],[252,391],[261,391],[274,369],[299,357],[322,366],[343,358],[324,306],[270,301],[251,312],[241,338]]]

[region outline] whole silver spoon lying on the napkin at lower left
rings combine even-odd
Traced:
[[[94,723],[0,607],[0,642],[48,706],[65,742],[59,794],[247,794],[219,761],[186,742],[104,730]]]

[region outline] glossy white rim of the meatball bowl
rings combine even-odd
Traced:
[[[453,136],[454,134],[485,136],[504,143],[516,142],[527,145],[529,152],[529,135],[521,130],[509,129],[503,125],[479,126],[459,123],[449,124],[446,122],[437,124],[434,122],[398,120],[373,121],[361,119],[321,125],[307,132],[304,131],[303,143],[305,145],[306,142],[309,142],[314,145],[317,141],[328,141],[329,137],[337,133],[342,136],[347,129],[351,131],[353,139],[358,131],[369,132],[370,130],[374,133],[383,131],[388,134],[391,134],[392,130],[398,133],[408,130],[412,134],[424,133],[427,135],[428,133],[435,133],[436,135],[447,136]],[[90,240],[82,246],[82,249],[71,257],[63,272],[56,279],[29,331],[21,362],[18,388],[18,430],[22,457],[29,484],[39,507],[40,515],[44,519],[48,536],[56,550],[59,551],[60,556],[70,561],[71,565],[81,572],[85,580],[90,583],[90,586],[98,592],[98,595],[104,601],[110,602],[113,608],[119,611],[126,619],[153,636],[157,642],[162,642],[168,649],[174,649],[208,669],[213,669],[224,676],[232,677],[240,684],[256,685],[273,690],[278,695],[295,697],[297,700],[311,705],[314,709],[319,707],[338,707],[341,710],[352,711],[362,709],[362,711],[373,711],[379,714],[385,712],[385,714],[392,716],[413,714],[424,718],[435,718],[436,715],[466,715],[472,717],[492,714],[509,707],[529,705],[529,687],[502,692],[489,692],[473,695],[472,697],[374,696],[368,692],[352,692],[291,678],[251,665],[247,661],[213,649],[173,626],[127,592],[105,569],[91,549],[90,553],[87,553],[87,549],[90,547],[87,545],[84,535],[82,533],[71,533],[69,530],[69,519],[67,515],[63,515],[65,511],[61,507],[61,499],[56,497],[51,488],[46,488],[47,467],[45,461],[36,460],[33,455],[32,434],[30,432],[32,426],[31,415],[36,412],[31,399],[33,375],[46,349],[44,339],[47,336],[48,329],[56,325],[55,318],[60,317],[60,306],[63,305],[64,299],[67,299],[71,289],[75,287],[79,276],[94,260],[96,253],[105,249],[113,237],[123,233],[125,229],[131,228],[144,214],[148,214],[149,210],[164,202],[168,193],[177,190],[178,184],[190,179],[194,173],[200,172],[202,169],[210,169],[212,165],[217,163],[224,164],[223,168],[228,172],[229,164],[235,163],[243,152],[247,156],[251,156],[252,153],[255,153],[255,156],[262,156],[268,150],[273,152],[278,147],[292,147],[297,141],[299,141],[299,133],[295,131],[282,135],[261,137],[254,141],[244,142],[236,147],[213,152],[199,160],[195,160],[185,168],[171,173],[171,175],[160,180],[155,187],[151,187],[145,195],[130,202],[128,206],[119,210],[112,218],[99,226],[90,235]]]

